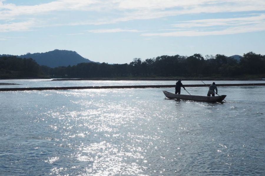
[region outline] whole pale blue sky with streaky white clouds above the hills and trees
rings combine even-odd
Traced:
[[[0,54],[265,55],[265,0],[0,0]]]

